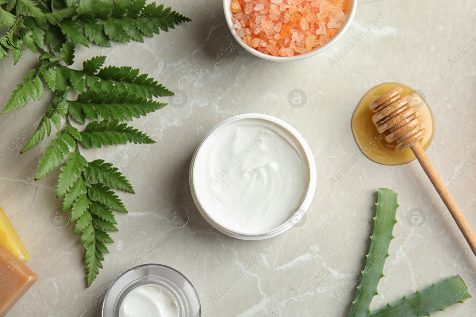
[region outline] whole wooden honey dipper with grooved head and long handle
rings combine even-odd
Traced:
[[[436,172],[435,166],[431,163],[420,142],[418,142],[426,135],[426,129],[420,126],[423,123],[423,119],[420,116],[415,117],[414,114],[417,113],[417,108],[408,107],[412,96],[400,97],[402,92],[403,89],[397,87],[372,101],[369,107],[370,110],[376,113],[372,116],[372,121],[377,127],[379,134],[385,133],[385,140],[388,143],[393,141],[397,143],[396,148],[398,151],[402,151],[407,147],[412,149],[426,175],[433,183],[433,186],[435,186],[436,192],[438,192],[451,216],[456,221],[459,230],[465,236],[471,250],[476,255],[475,233],[469,226],[468,221],[466,221],[453,196],[446,188],[440,175]]]

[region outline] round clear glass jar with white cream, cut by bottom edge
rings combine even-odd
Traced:
[[[199,317],[200,300],[176,269],[143,264],[124,272],[109,288],[102,317]]]

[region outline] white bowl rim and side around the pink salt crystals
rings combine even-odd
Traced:
[[[326,44],[324,44],[321,47],[314,48],[310,52],[307,52],[304,54],[297,54],[294,56],[273,56],[273,55],[261,53],[256,48],[250,48],[238,36],[235,27],[233,26],[233,24],[231,24],[231,18],[233,16],[233,12],[231,12],[231,9],[230,9],[231,0],[223,0],[223,10],[225,11],[225,19],[227,19],[228,28],[230,29],[231,34],[233,34],[233,37],[237,40],[237,42],[243,48],[245,48],[248,52],[250,52],[251,54],[259,58],[268,59],[274,62],[290,62],[290,61],[309,58],[319,54],[320,52],[325,51],[327,48],[330,48],[332,44],[334,44],[342,36],[342,34],[344,34],[344,32],[347,30],[350,23],[352,22],[352,19],[354,19],[354,14],[356,13],[356,10],[357,10],[357,0],[348,0],[348,3],[349,5],[347,9],[344,10],[344,13],[346,13],[347,15],[347,20],[345,21],[344,25],[339,29],[339,31],[333,38],[331,38]]]

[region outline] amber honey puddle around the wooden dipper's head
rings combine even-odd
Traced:
[[[412,88],[399,83],[383,83],[370,89],[367,94],[362,97],[352,115],[352,133],[354,134],[354,138],[362,153],[372,161],[384,165],[405,164],[416,158],[410,148],[406,148],[403,151],[397,151],[395,148],[397,145],[395,141],[387,143],[384,139],[385,133],[378,134],[377,128],[372,122],[372,115],[375,115],[375,113],[369,109],[368,105],[378,96],[383,95],[387,91],[396,87],[402,87],[403,92],[400,94],[401,97],[412,92],[412,96],[417,98],[417,100],[421,100],[421,103],[415,106],[419,110],[414,114],[414,116],[423,117],[423,124],[421,126],[426,128],[426,135],[419,142],[425,150],[433,139],[433,131],[435,128],[433,115],[431,114],[430,107],[426,103],[425,98],[420,96],[420,94],[415,93]],[[422,104],[423,106],[421,106]]]

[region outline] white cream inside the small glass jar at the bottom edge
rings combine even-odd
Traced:
[[[119,317],[178,316],[178,305],[172,294],[155,285],[142,285],[132,289],[119,309]]]

